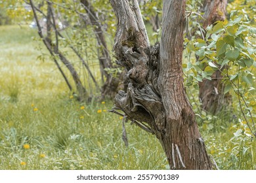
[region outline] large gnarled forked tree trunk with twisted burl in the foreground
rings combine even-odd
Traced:
[[[186,1],[163,1],[161,43],[154,46],[137,0],[110,3],[117,16],[114,52],[126,71],[125,90],[116,95],[114,110],[125,113],[124,121],[156,135],[171,169],[212,169],[183,86]]]

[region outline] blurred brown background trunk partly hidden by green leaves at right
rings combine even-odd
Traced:
[[[217,21],[224,21],[226,19],[226,4],[227,0],[205,0],[202,12],[203,28],[206,29],[208,25],[214,24]],[[224,83],[221,82],[221,71],[217,70],[211,76],[211,80],[204,79],[199,83],[200,92],[199,98],[202,102],[202,108],[211,114],[217,114],[224,106],[227,106],[231,101],[229,93],[223,94]]]

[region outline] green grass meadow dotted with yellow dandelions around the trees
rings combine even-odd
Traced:
[[[0,27],[0,169],[167,169],[157,139],[106,112],[112,101],[78,103],[41,54],[33,29]],[[43,45],[41,45],[43,47]],[[243,122],[199,122],[220,169],[256,169],[256,143]]]

